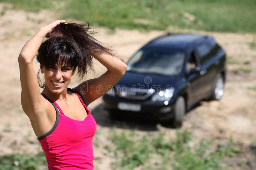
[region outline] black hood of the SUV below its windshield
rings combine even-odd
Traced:
[[[116,83],[115,86],[126,86],[127,88],[151,89],[159,88],[167,89],[174,87],[178,82],[178,76],[166,76],[158,74],[142,74],[126,71],[124,76]],[[158,90],[157,90],[158,91]]]

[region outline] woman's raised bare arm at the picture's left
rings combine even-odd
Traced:
[[[21,82],[21,105],[24,112],[30,117],[31,115],[39,115],[42,113],[42,96],[33,67],[33,60],[42,44],[44,37],[52,31],[52,29],[60,24],[65,23],[64,20],[53,21],[39,29],[39,31],[28,40],[23,46],[18,61],[20,66],[20,82]]]

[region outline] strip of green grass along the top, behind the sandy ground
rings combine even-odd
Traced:
[[[166,30],[169,26],[217,32],[256,32],[255,0],[0,0],[15,9],[58,11],[61,18],[110,29]]]

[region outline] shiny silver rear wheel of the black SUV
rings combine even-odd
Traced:
[[[217,74],[215,81],[214,81],[214,87],[212,90],[212,100],[220,100],[224,93],[224,80],[222,74]]]

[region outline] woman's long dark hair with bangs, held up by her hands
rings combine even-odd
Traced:
[[[68,23],[57,25],[51,33],[46,35],[45,40],[38,49],[36,60],[43,67],[55,66],[56,64],[67,64],[76,68],[82,79],[89,69],[93,70],[92,56],[107,53],[114,55],[112,50],[100,44],[93,38],[89,23]],[[40,71],[40,70],[39,70]],[[37,73],[39,86],[45,87]]]

